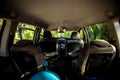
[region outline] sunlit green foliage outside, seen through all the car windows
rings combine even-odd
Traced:
[[[0,20],[0,25],[1,25],[1,22],[2,21]],[[15,33],[14,43],[20,40],[20,34],[18,32],[19,28],[23,29],[22,30],[23,39],[33,40],[35,26],[25,24],[25,23],[19,23],[17,31]],[[52,37],[55,37],[55,38],[57,38],[57,37],[70,38],[72,32],[73,31],[66,31],[66,30],[64,30],[63,33],[58,33],[58,31],[51,31]],[[94,39],[104,39],[104,40],[109,41],[107,26],[105,23],[90,25],[88,27],[88,32],[89,32],[89,36],[90,36],[90,41],[92,41]],[[41,35],[40,37],[42,38],[43,31],[41,31],[40,35]],[[80,31],[80,37],[82,39],[84,37],[82,30]]]

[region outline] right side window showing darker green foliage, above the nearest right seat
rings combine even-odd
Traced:
[[[107,25],[105,22],[89,25],[87,29],[90,41],[95,39],[103,39],[109,41],[109,33],[107,31]]]

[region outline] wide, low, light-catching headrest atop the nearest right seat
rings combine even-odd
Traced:
[[[99,47],[108,47],[110,46],[110,43],[105,41],[105,40],[101,40],[101,39],[96,39],[91,41],[91,44],[99,46]]]

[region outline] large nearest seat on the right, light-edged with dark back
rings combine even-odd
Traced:
[[[116,48],[105,40],[91,41],[80,53],[77,63],[82,76],[103,76],[116,54]]]

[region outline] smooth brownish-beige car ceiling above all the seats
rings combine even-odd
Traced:
[[[119,0],[1,0],[0,17],[57,29],[78,29],[114,17]]]

